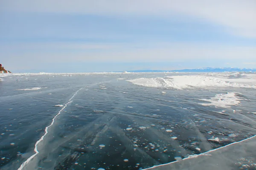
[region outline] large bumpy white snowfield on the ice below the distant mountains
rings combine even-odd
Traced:
[[[220,77],[222,75],[222,77]],[[215,77],[212,77],[215,76]],[[218,76],[218,77],[216,77]],[[229,77],[230,76],[230,77]],[[227,78],[228,77],[228,78]],[[232,77],[232,79],[230,79]],[[241,78],[247,77],[247,79]],[[134,85],[155,88],[207,88],[207,87],[234,87],[234,88],[256,88],[256,76],[245,74],[201,74],[171,77],[137,78],[126,80]]]

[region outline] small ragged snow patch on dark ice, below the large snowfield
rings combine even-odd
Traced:
[[[241,97],[236,96],[239,93],[231,92],[227,94],[216,94],[211,99],[200,99],[209,103],[198,103],[203,106],[215,106],[217,108],[230,108],[231,105],[239,105]],[[222,113],[225,114],[225,113]]]

